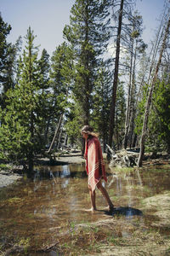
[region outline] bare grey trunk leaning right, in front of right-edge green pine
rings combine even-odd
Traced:
[[[152,94],[153,94],[153,90],[154,90],[155,84],[156,84],[157,73],[158,73],[159,67],[161,65],[161,57],[162,57],[163,51],[165,49],[166,40],[167,40],[167,36],[168,36],[168,32],[169,32],[169,27],[170,27],[170,19],[167,21],[167,28],[166,28],[165,35],[164,35],[164,38],[163,38],[163,43],[161,45],[161,51],[160,51],[159,59],[157,61],[157,65],[156,65],[156,72],[154,74],[154,78],[152,79],[152,83],[150,85],[150,92],[149,92],[147,103],[146,103],[146,108],[145,108],[145,113],[144,113],[144,123],[143,123],[143,129],[142,129],[142,136],[141,136],[141,141],[140,141],[140,153],[139,153],[138,166],[142,166],[142,160],[143,160],[143,156],[144,156],[144,142],[145,142],[147,125],[148,125],[150,105],[151,105],[151,101],[152,101]]]

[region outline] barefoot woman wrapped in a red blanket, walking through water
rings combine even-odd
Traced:
[[[91,198],[92,212],[96,211],[95,204],[95,187],[101,191],[107,201],[109,210],[113,210],[114,206],[111,199],[101,183],[101,179],[104,178],[107,182],[105,175],[105,164],[102,156],[102,151],[99,143],[98,136],[93,132],[93,128],[89,125],[82,127],[82,137],[85,139],[85,154],[86,159],[86,171],[88,173],[88,189]]]

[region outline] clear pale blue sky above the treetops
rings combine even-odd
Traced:
[[[37,35],[35,45],[46,49],[52,55],[59,44],[64,42],[62,35],[69,24],[70,10],[75,0],[0,0],[3,20],[12,26],[8,42],[15,43],[19,36],[25,37],[29,26]],[[144,20],[144,43],[150,44],[154,31],[159,25],[163,10],[163,0],[137,0],[136,9]]]

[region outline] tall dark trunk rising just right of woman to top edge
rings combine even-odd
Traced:
[[[111,97],[111,112],[110,112],[110,126],[109,126],[109,145],[112,146],[112,137],[115,125],[115,107],[116,107],[116,88],[118,82],[118,72],[119,72],[119,54],[120,54],[120,43],[121,43],[121,31],[122,31],[122,11],[123,11],[124,0],[121,0],[121,7],[119,10],[119,23],[117,29],[116,38],[116,61],[115,61],[115,73],[113,80],[113,89]]]

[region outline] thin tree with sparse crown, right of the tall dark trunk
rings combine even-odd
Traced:
[[[130,27],[127,29],[129,41],[129,52],[130,52],[130,65],[129,65],[129,84],[127,90],[127,111],[125,119],[125,130],[124,130],[124,140],[123,147],[127,148],[127,143],[131,148],[133,146],[134,137],[134,119],[136,115],[135,102],[137,97],[137,86],[136,86],[136,62],[139,55],[144,52],[146,44],[141,38],[143,32],[142,29],[142,18],[140,15],[134,13],[134,15],[129,18]],[[132,26],[132,27],[131,27]]]

